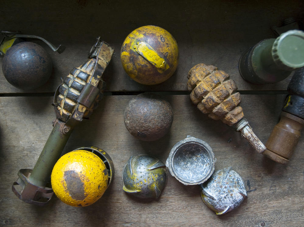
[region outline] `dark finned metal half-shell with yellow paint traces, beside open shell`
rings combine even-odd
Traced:
[[[131,156],[123,169],[123,190],[135,197],[157,199],[166,184],[165,164],[151,155]]]

